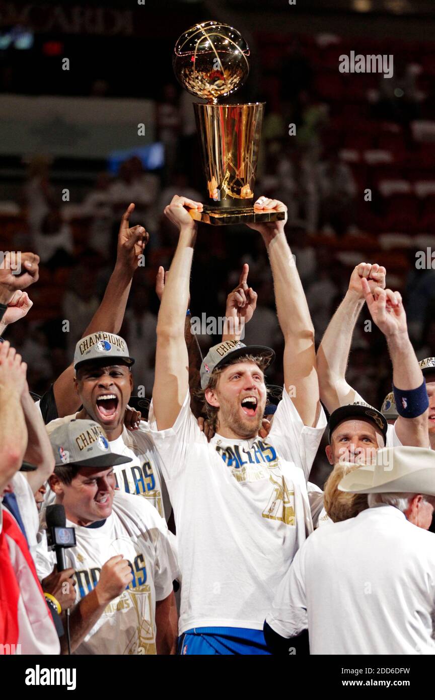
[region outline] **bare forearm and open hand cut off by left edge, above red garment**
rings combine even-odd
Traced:
[[[6,340],[0,345],[0,493],[22,465],[27,428],[21,394],[26,386],[26,363]]]

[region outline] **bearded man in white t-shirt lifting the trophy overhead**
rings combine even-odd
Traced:
[[[283,221],[250,223],[271,261],[285,338],[283,399],[266,440],[265,346],[224,340],[201,365],[215,435],[208,442],[190,409],[184,323],[202,204],[173,197],[166,216],[180,231],[157,321],[154,440],[173,505],[183,577],[181,654],[267,654],[264,611],[298,547],[312,531],[306,480],[325,414],[320,407],[314,330]],[[287,211],[261,197],[256,209]],[[153,425],[154,427],[154,425]]]

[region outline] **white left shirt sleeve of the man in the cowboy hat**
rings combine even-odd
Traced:
[[[271,610],[266,617],[266,622],[273,631],[286,639],[296,637],[304,629],[308,629],[304,582],[307,542],[304,542],[295,554],[289,570],[276,589]]]

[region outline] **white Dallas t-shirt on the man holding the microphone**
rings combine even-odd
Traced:
[[[155,654],[155,603],[167,598],[178,573],[176,555],[164,519],[144,498],[115,492],[113,512],[99,527],[76,528],[76,547],[65,549],[66,568],[75,570],[76,602],[99,580],[101,567],[116,554],[131,564],[134,580],[115,598],[75,654]],[[36,553],[42,579],[56,563],[48,552],[45,531]]]

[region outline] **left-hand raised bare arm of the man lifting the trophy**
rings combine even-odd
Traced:
[[[157,351],[152,402],[159,430],[173,426],[189,386],[185,318],[189,302],[190,269],[197,224],[188,214],[185,204],[194,209],[202,208],[200,202],[175,196],[164,210],[166,216],[178,227],[180,236],[169,269],[157,320]]]

